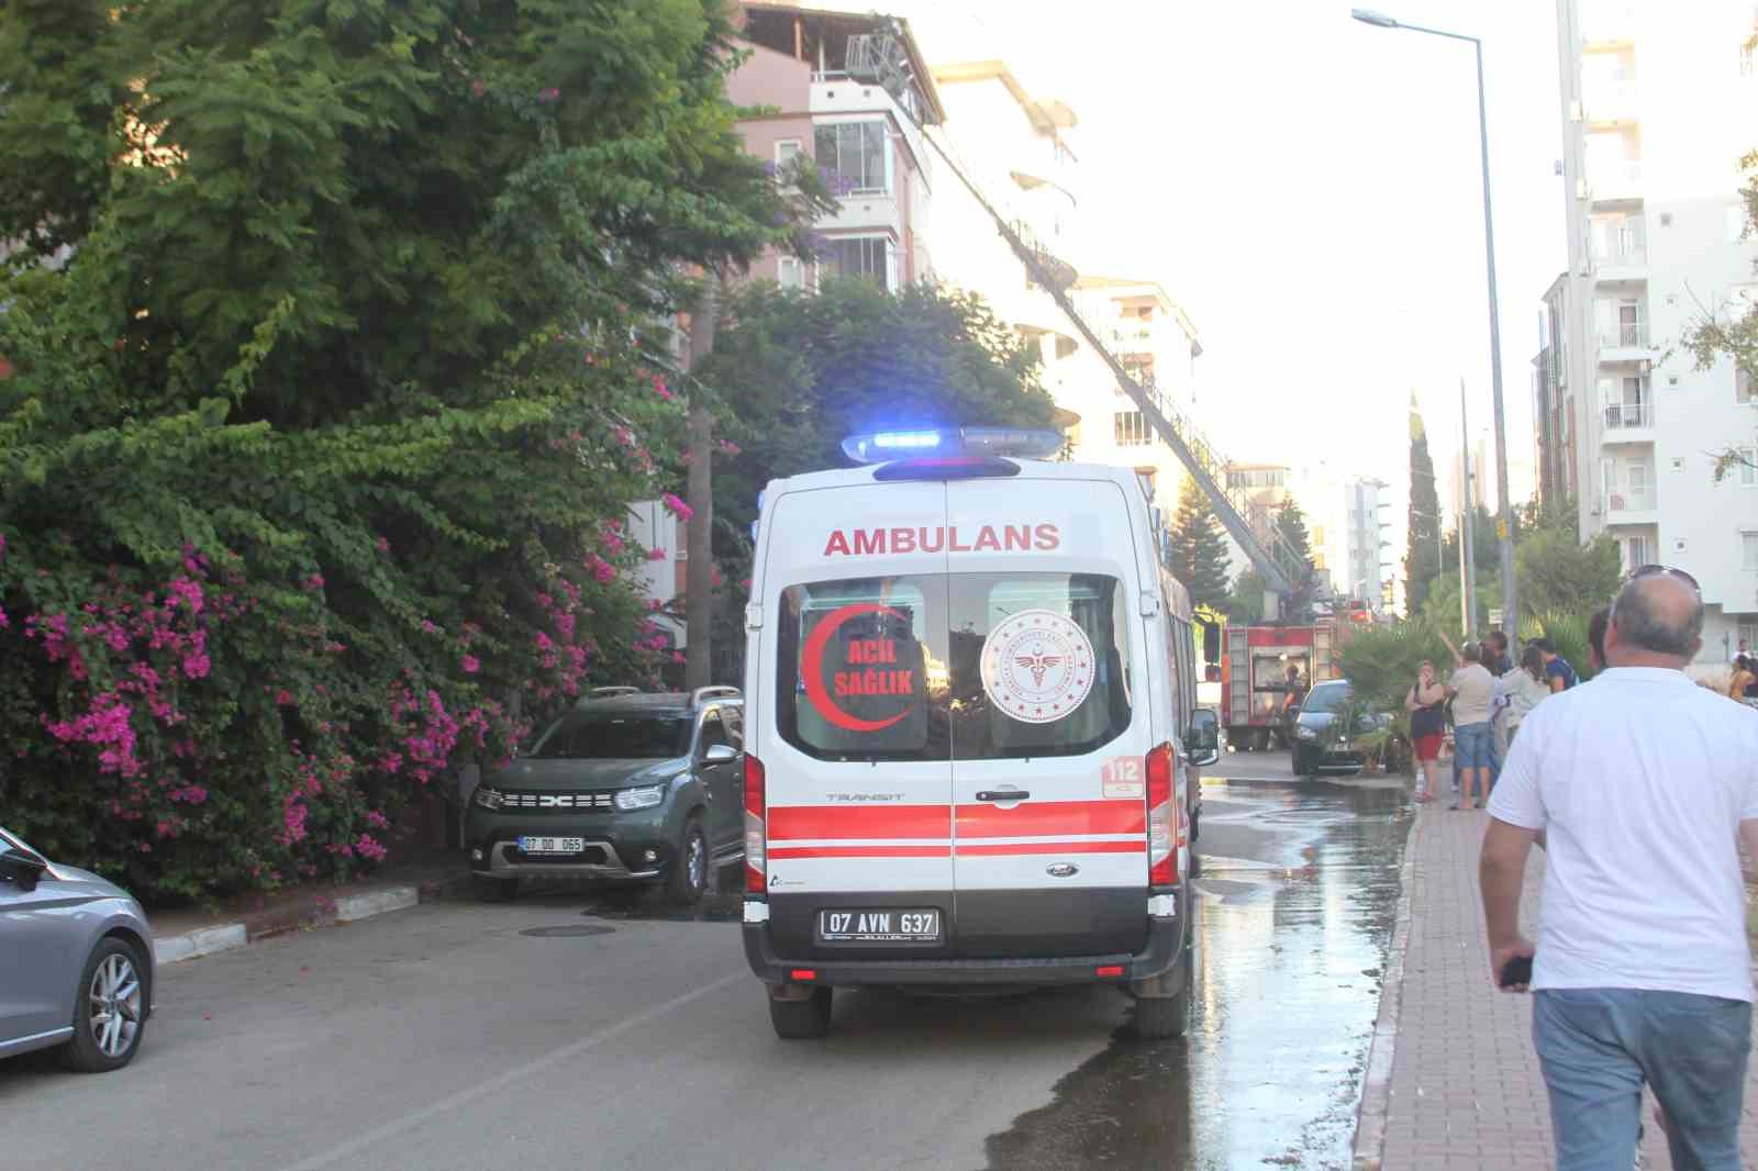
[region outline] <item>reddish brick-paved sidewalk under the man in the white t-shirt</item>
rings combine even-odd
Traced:
[[[1489,983],[1477,888],[1486,825],[1482,812],[1424,805],[1405,846],[1405,900],[1362,1092],[1357,1171],[1552,1166],[1531,997]],[[1544,862],[1535,849],[1526,867],[1521,925],[1528,937],[1536,934]],[[1746,1166],[1758,1164],[1753,1073],[1758,1067],[1746,1083]],[[1672,1167],[1653,1124],[1653,1097],[1642,1118],[1642,1166]]]

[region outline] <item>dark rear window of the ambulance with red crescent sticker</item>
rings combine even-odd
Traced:
[[[793,586],[781,600],[777,726],[802,753],[835,761],[1092,753],[1132,719],[1123,594],[1116,578],[1086,573]],[[984,682],[990,635],[1021,610],[1072,621],[1092,651],[1085,665],[1044,656],[1044,668],[1064,679],[1076,679],[1079,666],[1090,670],[1085,695],[1058,719],[1014,719],[1000,707],[1002,689]]]

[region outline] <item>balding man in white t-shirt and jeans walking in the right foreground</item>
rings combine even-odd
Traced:
[[[1702,629],[1691,577],[1631,577],[1607,672],[1533,709],[1489,805],[1491,979],[1535,993],[1558,1171],[1633,1164],[1644,1081],[1675,1167],[1740,1167],[1753,1000],[1740,844],[1758,856],[1758,712],[1691,686]],[[1519,932],[1535,840],[1549,855],[1536,951]]]

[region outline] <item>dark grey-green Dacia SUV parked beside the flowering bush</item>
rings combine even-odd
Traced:
[[[585,698],[471,795],[476,888],[522,877],[663,883],[701,898],[744,855],[744,700],[737,687]]]

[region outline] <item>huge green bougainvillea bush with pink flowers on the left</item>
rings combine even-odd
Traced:
[[[670,651],[656,324],[789,229],[712,0],[0,26],[0,823],[151,898],[346,874]]]

